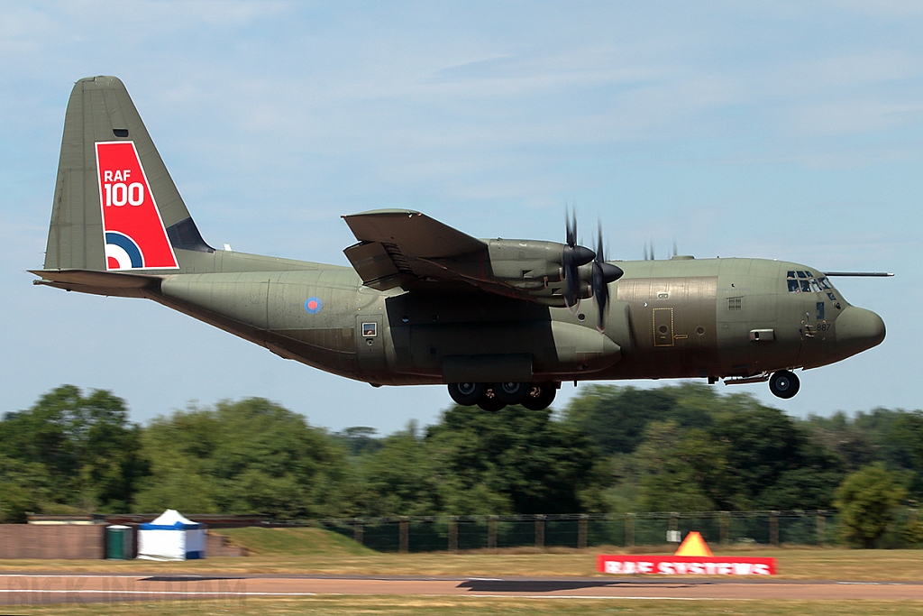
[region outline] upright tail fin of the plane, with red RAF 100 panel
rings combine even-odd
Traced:
[[[80,79],[67,103],[44,269],[170,272],[190,250],[214,252],[126,87]]]

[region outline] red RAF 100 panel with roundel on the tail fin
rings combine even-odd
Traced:
[[[134,141],[96,143],[106,269],[178,267]]]

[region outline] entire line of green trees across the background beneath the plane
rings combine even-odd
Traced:
[[[872,501],[881,522],[851,537],[868,543],[921,496],[923,412],[797,419],[701,384],[589,386],[559,413],[454,406],[387,436],[314,427],[262,398],[141,426],[113,393],[72,385],[0,420],[2,522],[167,507],[283,519],[835,508],[858,527]]]

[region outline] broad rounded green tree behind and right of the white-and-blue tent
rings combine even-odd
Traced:
[[[344,448],[262,398],[160,417],[144,432],[140,508],[294,518],[352,513]]]

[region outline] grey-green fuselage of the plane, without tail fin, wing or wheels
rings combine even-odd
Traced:
[[[148,297],[375,385],[476,380],[479,370],[521,379],[526,361],[536,382],[747,377],[830,364],[884,337],[878,315],[833,288],[791,292],[786,272],[812,271],[776,260],[617,261],[625,274],[610,285],[605,333],[592,300],[568,309],[477,289],[381,292],[351,268],[221,250],[184,262],[184,273],[150,272],[156,284],[95,292]]]

